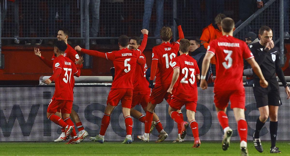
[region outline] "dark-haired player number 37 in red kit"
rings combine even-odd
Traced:
[[[75,64],[69,58],[64,57],[66,48],[67,45],[64,41],[55,43],[54,53],[56,58],[53,61],[53,75],[44,81],[46,84],[55,81],[55,92],[48,105],[46,115],[49,120],[65,130],[66,137],[71,134],[72,139],[68,144],[77,144],[79,138],[74,130],[74,123],[70,120],[70,113],[73,107],[73,86],[75,84],[73,76],[80,76],[83,59],[75,60]],[[55,115],[59,111],[61,111],[62,119]]]

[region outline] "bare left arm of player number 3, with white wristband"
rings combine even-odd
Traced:
[[[202,61],[202,72],[200,76],[200,88],[206,89],[207,88],[207,82],[205,80],[206,73],[209,70],[209,63],[211,62],[211,58],[213,58],[213,53],[206,53],[204,56],[204,59]]]

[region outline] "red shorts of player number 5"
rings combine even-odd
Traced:
[[[131,109],[133,89],[121,88],[111,89],[109,92],[107,105],[117,106],[121,100],[122,107]]]

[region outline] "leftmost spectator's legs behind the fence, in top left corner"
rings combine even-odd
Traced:
[[[12,26],[11,30],[14,30],[13,35],[14,35],[14,43],[19,44],[19,40],[17,39],[17,37],[19,37],[19,4],[18,4],[18,0],[8,0],[7,2],[7,8],[3,9],[2,11],[2,21],[1,21],[1,28],[2,31],[4,30],[3,24],[4,21],[7,17],[7,9],[10,7],[13,7],[13,11],[14,13],[8,13],[8,14],[14,14],[14,24]],[[8,25],[9,26],[9,25]],[[7,30],[5,30],[7,31]],[[4,32],[4,31],[3,31]],[[2,33],[3,34],[3,33]]]

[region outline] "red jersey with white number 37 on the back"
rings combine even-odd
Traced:
[[[53,72],[61,70],[61,73],[54,79],[55,93],[52,99],[73,101],[73,86],[75,85],[73,75],[79,72],[75,63],[68,57],[60,55],[54,59],[53,64]]]

